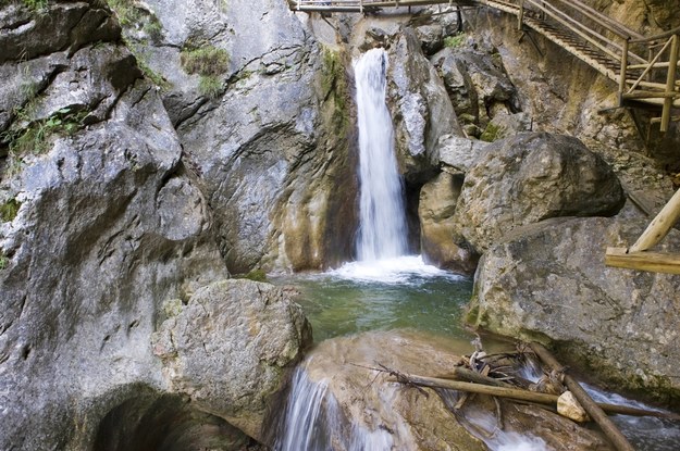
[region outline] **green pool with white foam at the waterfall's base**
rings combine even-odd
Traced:
[[[472,280],[425,265],[420,256],[354,262],[329,273],[272,281],[300,290],[296,301],[311,322],[317,342],[359,331],[404,328],[469,336],[461,315]]]

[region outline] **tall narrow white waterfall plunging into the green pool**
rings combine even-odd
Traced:
[[[404,188],[394,153],[394,129],[385,103],[387,53],[372,49],[354,62],[359,125],[361,261],[407,251]]]

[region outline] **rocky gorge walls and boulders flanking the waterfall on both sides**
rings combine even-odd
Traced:
[[[672,192],[677,126],[645,156],[623,112],[597,113],[607,82],[484,9],[447,46],[455,14],[333,29],[279,0],[109,3],[0,1],[0,448],[271,442],[309,328],[285,290],[225,279],[353,256],[348,67],[379,45],[411,247],[467,274],[482,258],[470,323],[677,399],[678,277],[597,256],[647,221],[625,191]],[[672,3],[593,4],[654,33]],[[491,180],[510,188],[475,191]]]

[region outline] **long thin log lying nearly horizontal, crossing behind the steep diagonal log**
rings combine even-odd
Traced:
[[[400,383],[430,387],[430,388],[444,388],[449,390],[466,391],[470,393],[490,394],[493,397],[509,398],[519,401],[534,402],[545,405],[557,405],[557,394],[541,393],[536,391],[522,390],[517,388],[489,386],[482,384],[465,383],[461,380],[442,379],[438,377],[426,377],[415,374],[399,373],[397,378]],[[648,411],[646,409],[630,408],[627,405],[597,403],[597,405],[605,412],[610,414],[631,415],[631,416],[655,416],[659,418],[680,419],[680,415],[671,412],[656,412]]]

